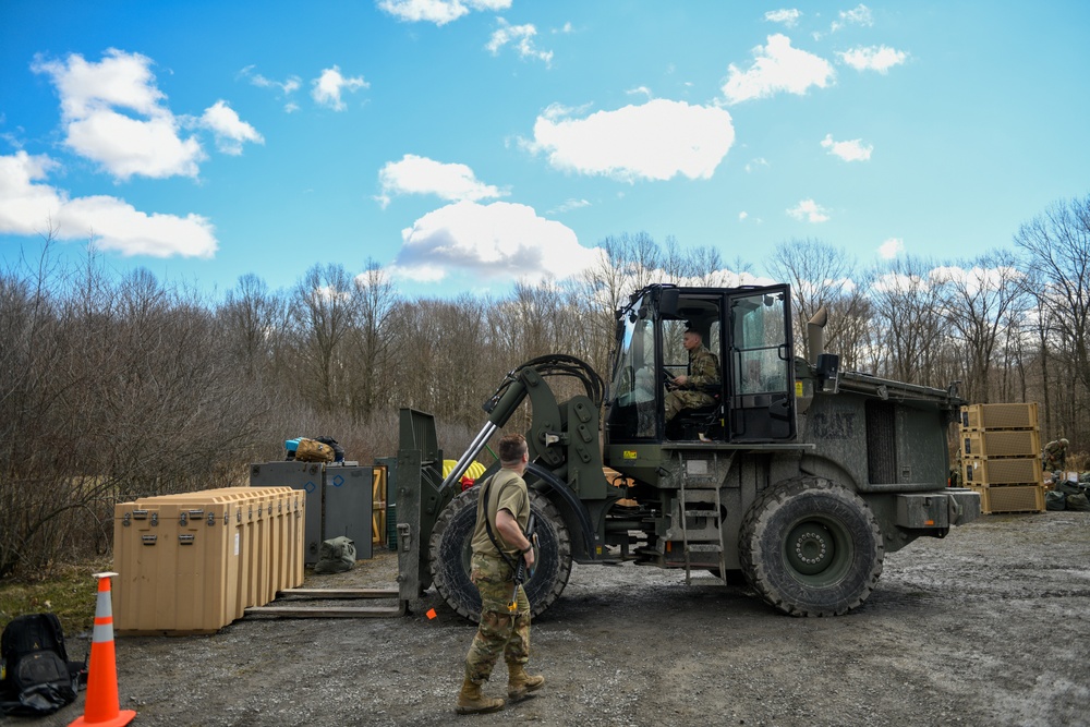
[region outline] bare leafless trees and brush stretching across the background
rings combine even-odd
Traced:
[[[518,364],[567,353],[608,378],[614,312],[640,287],[753,280],[717,247],[626,233],[600,241],[580,277],[498,298],[405,298],[367,260],[316,265],[281,290],[245,275],[207,300],[145,269],[111,275],[93,247],[62,265],[46,238],[38,259],[0,274],[0,578],[107,552],[116,502],[245,484],[286,438],[332,436],[361,463],[396,455],[403,407],[434,414],[457,458]],[[1090,449],[1090,197],[971,259],[863,268],[806,239],[764,262],[791,284],[799,355],[826,305],[843,367],[1038,401],[1044,439]]]

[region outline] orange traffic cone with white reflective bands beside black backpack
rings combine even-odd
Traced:
[[[98,603],[95,606],[95,630],[90,637],[90,667],[87,673],[87,700],[83,716],[69,727],[107,725],[122,727],[136,716],[133,710],[122,710],[118,698],[118,661],[113,651],[113,604],[110,602],[110,578],[117,573],[95,573],[98,579]]]

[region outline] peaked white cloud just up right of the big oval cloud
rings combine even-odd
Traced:
[[[723,94],[728,104],[767,98],[780,92],[803,95],[811,86],[824,88],[836,78],[833,65],[820,56],[791,47],[786,35],[770,35],[766,46],[753,49],[753,64],[746,71],[728,68]]]

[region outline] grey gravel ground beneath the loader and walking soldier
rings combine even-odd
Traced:
[[[307,586],[392,586],[388,552]],[[533,627],[534,699],[458,717],[474,627],[434,591],[404,618],[247,617],[120,638],[135,725],[1090,725],[1090,513],[985,516],[886,557],[848,616],[780,616],[678,571],[574,567]],[[338,604],[343,605],[343,604]],[[436,607],[429,620],[424,611]],[[86,653],[87,634],[71,652]],[[505,695],[506,675],[487,687]],[[80,700],[51,717],[68,725]]]

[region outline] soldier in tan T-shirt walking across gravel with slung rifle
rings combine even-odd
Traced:
[[[470,580],[481,593],[481,623],[465,656],[465,680],[458,694],[458,714],[479,714],[504,708],[504,700],[489,699],[481,687],[504,655],[507,662],[507,695],[518,701],[545,684],[545,677],[526,674],[530,659],[530,601],[520,585],[518,610],[508,603],[514,590],[518,559],[534,566],[533,544],[525,536],[530,520],[530,494],[522,475],[530,461],[525,437],[511,434],[499,440],[502,469],[488,477],[477,498],[477,519],[473,530],[473,556]]]

